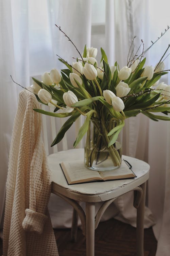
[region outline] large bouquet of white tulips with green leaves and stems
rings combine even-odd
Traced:
[[[145,66],[143,56],[148,49],[139,56],[129,53],[127,65],[119,69],[117,62],[109,66],[102,48],[98,65],[97,48],[85,46],[83,54],[78,51],[80,57],[72,64],[59,56],[67,67],[61,73],[52,69],[42,75],[42,81],[33,78],[32,87],[38,101],[55,106],[54,112],[34,110],[54,117],[69,117],[51,146],[60,142],[75,120],[84,115],[74,147],[87,134],[86,166],[92,167],[94,162],[97,165],[109,157],[117,167],[121,165],[121,152],[116,141],[126,118],[141,113],[155,121],[170,120],[170,86],[159,83],[168,70],[165,71],[163,57],[155,67]],[[89,128],[90,122],[93,130]],[[103,160],[99,152],[105,152]]]

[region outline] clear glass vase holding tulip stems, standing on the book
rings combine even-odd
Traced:
[[[84,165],[92,170],[109,171],[121,165],[122,143],[118,137],[117,141],[108,147],[111,137],[107,134],[114,127],[119,125],[119,120],[111,120],[105,124],[102,121],[90,120],[86,134],[84,147]]]

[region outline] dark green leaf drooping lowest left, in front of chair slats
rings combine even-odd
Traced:
[[[64,123],[64,125],[61,127],[60,131],[58,132],[56,138],[51,144],[51,147],[56,145],[58,142],[60,142],[66,131],[72,126],[72,124],[75,122],[75,120],[80,116],[80,113],[77,111],[72,114],[72,116]]]

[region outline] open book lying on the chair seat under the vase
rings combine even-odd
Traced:
[[[108,181],[134,178],[136,175],[124,161],[119,168],[112,171],[94,171],[86,168],[82,161],[60,163],[68,184],[91,181]]]

